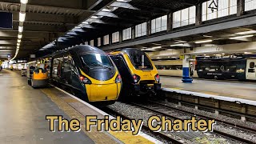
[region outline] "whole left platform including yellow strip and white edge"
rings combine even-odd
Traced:
[[[108,114],[54,86],[34,89],[18,71],[0,72],[0,90],[1,143],[161,143],[142,132],[134,136],[130,132],[98,132],[96,127],[86,131],[86,115],[103,118]],[[50,132],[46,115],[76,118],[82,130]]]

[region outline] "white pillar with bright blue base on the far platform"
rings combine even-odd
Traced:
[[[184,55],[182,60],[182,82],[183,83],[192,83],[193,79],[190,78],[190,62],[187,59],[190,58],[190,55]]]

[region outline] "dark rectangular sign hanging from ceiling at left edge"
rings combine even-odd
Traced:
[[[13,14],[0,12],[0,29],[13,29]]]

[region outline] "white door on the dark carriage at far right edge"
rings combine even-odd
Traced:
[[[256,59],[247,59],[246,79],[256,80],[255,64],[256,64]]]

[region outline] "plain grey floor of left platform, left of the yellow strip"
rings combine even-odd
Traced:
[[[50,132],[46,115],[69,118],[18,72],[0,72],[0,143],[94,143],[82,130]]]

